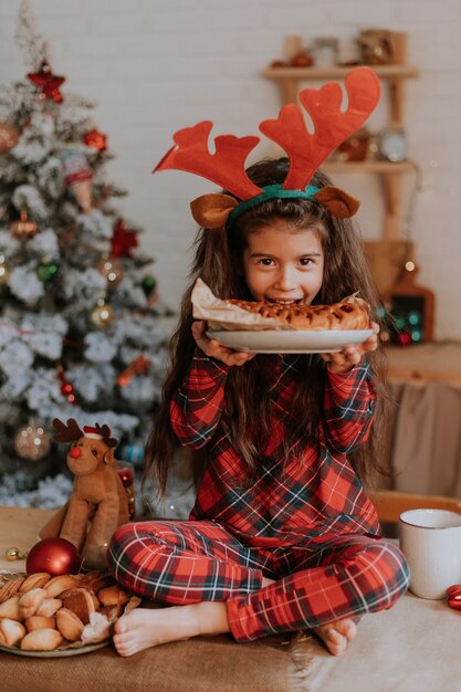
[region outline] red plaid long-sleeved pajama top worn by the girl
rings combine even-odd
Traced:
[[[212,520],[249,545],[290,546],[345,534],[379,532],[370,500],[347,453],[367,438],[375,391],[363,361],[347,374],[327,369],[319,454],[307,447],[285,464],[282,419],[303,376],[303,358],[270,357],[271,439],[258,476],[249,486],[248,465],[230,441],[222,419],[229,367],[196,350],[189,375],[171,402],[171,426],[182,445],[210,448],[191,520]]]

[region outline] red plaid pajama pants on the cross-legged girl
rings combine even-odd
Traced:
[[[360,535],[261,548],[211,521],[121,526],[107,552],[124,587],[168,605],[226,601],[245,641],[390,608],[408,587],[400,551]],[[275,583],[262,588],[262,577]]]

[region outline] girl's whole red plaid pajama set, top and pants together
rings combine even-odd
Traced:
[[[376,535],[375,508],[347,461],[373,419],[368,366],[328,374],[319,453],[308,447],[284,463],[283,418],[301,363],[270,361],[272,436],[249,483],[221,416],[228,367],[197,350],[170,409],[179,441],[211,452],[190,521],[127,524],[108,548],[115,578],[144,597],[224,601],[239,641],[381,610],[408,586],[405,558]],[[275,583],[263,588],[263,575]]]

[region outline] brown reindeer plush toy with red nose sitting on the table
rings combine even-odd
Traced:
[[[107,426],[85,426],[75,419],[67,424],[55,418],[54,439],[72,442],[67,466],[75,475],[67,503],[43,526],[41,538],[66,538],[84,558],[84,566],[105,567],[106,546],[115,530],[128,521],[128,499],[116,471],[114,448]]]

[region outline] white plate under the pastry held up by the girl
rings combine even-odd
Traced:
[[[352,344],[362,344],[373,329],[263,329],[261,332],[207,332],[224,346],[256,354],[337,353]]]

